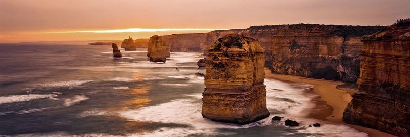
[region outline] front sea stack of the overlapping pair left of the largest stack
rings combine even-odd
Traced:
[[[165,62],[166,53],[162,49],[163,41],[158,35],[154,35],[148,41],[147,56],[151,62]]]

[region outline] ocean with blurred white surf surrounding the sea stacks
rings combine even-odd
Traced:
[[[123,49],[121,49],[123,50]],[[312,85],[265,78],[271,116],[239,125],[201,115],[202,53],[171,52],[149,62],[147,49],[0,44],[0,136],[367,136],[308,117]],[[179,69],[176,70],[176,68]],[[283,116],[299,122],[288,127]],[[321,127],[308,127],[321,123]]]

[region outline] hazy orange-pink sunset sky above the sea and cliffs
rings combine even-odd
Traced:
[[[410,0],[0,0],[0,42],[122,40],[254,25],[391,25]]]

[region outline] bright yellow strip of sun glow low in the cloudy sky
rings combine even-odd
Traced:
[[[83,30],[83,31],[55,31],[55,32],[38,32],[42,34],[49,33],[125,33],[125,32],[166,32],[166,31],[206,31],[206,30],[227,30],[227,29],[211,29],[211,28],[128,28],[128,29],[114,29],[114,30]]]

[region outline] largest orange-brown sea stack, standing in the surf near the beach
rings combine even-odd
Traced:
[[[202,116],[240,124],[268,117],[263,67],[257,40],[237,34],[219,38],[206,57]]]

